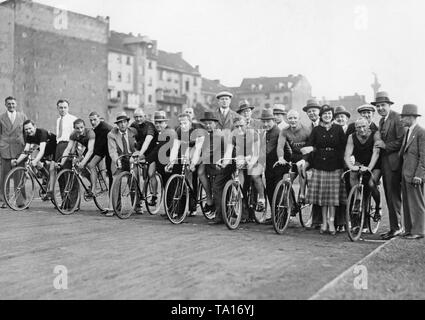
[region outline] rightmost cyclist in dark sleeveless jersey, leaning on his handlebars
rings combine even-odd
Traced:
[[[379,180],[381,178],[381,165],[379,161],[380,149],[376,147],[380,141],[379,131],[372,132],[366,119],[360,118],[355,123],[356,132],[348,137],[345,149],[345,163],[350,172],[350,185],[353,187],[359,182],[358,174],[355,171],[363,171],[368,179],[369,189],[376,203],[376,217],[380,217],[381,196],[378,190]],[[355,163],[352,162],[352,156]],[[368,171],[371,171],[370,174]],[[354,204],[357,205],[357,204]]]

